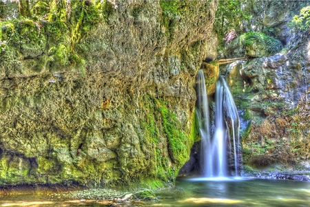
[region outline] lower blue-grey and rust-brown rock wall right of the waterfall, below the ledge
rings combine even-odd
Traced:
[[[309,46],[231,65],[229,81],[247,122],[245,161],[252,166],[310,159]],[[246,121],[245,121],[246,122]]]

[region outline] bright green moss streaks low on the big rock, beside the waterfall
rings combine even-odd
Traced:
[[[144,130],[140,132],[137,129],[136,132],[141,144],[148,145],[151,149],[147,154],[155,157],[148,177],[159,179],[165,184],[173,182],[178,175],[178,169],[187,161],[194,141],[190,139],[190,135],[185,135],[180,121],[169,111],[165,101],[145,95],[142,102],[145,120],[141,120],[141,128]],[[163,149],[166,147],[169,155]]]

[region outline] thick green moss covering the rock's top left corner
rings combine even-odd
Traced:
[[[5,32],[1,30],[0,33],[0,62],[8,68],[6,72],[14,72],[11,68],[21,68],[13,61],[19,56],[37,57],[45,52],[50,55],[52,71],[77,68],[81,75],[85,75],[86,61],[75,51],[75,46],[103,19],[103,4],[101,1],[73,0],[68,14],[67,1],[38,1],[32,8],[34,15],[31,18],[1,22],[0,26],[6,26],[3,27]],[[8,48],[16,52],[9,52]],[[33,70],[41,71],[37,66]]]

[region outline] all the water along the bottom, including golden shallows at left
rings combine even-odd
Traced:
[[[80,201],[50,197],[2,197],[0,206],[310,206],[310,182],[271,179],[179,178],[156,193],[159,201]]]

